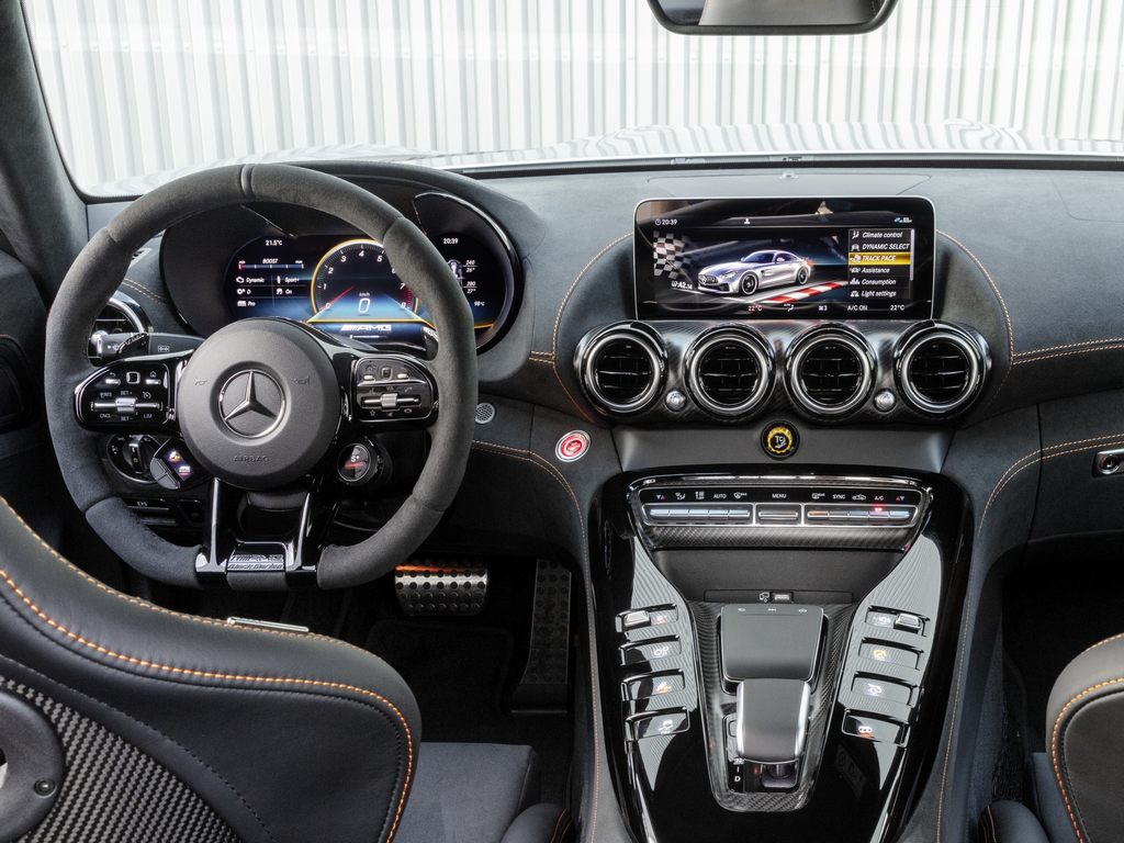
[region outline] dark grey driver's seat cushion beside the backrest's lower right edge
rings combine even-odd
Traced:
[[[563,840],[569,815],[537,799],[538,759],[529,746],[426,743],[397,843]]]

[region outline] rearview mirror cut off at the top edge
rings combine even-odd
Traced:
[[[649,0],[680,35],[833,35],[869,33],[897,0]]]

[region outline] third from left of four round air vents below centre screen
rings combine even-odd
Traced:
[[[873,359],[865,342],[849,332],[817,330],[797,342],[788,362],[792,399],[817,416],[841,416],[867,400]]]

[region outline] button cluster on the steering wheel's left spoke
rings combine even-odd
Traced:
[[[91,427],[162,427],[171,410],[170,384],[166,363],[115,363],[79,387],[79,420]]]

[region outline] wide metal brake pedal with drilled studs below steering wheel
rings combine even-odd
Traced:
[[[488,563],[411,560],[395,569],[395,595],[411,616],[479,615],[488,599]]]

